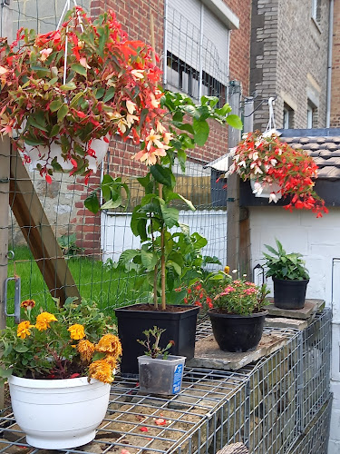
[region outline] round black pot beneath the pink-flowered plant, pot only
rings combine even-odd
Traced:
[[[223,351],[255,350],[261,341],[267,311],[251,315],[229,315],[219,310],[208,311],[212,332]]]

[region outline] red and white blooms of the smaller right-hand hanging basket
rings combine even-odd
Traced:
[[[263,190],[263,184],[273,187],[269,202],[277,202],[280,196],[288,197],[285,208],[290,212],[312,210],[316,217],[328,212],[325,201],[314,190],[317,165],[304,150],[295,150],[280,141],[276,134],[248,133],[232,149],[228,174],[238,173],[243,181],[254,180],[254,193]],[[277,188],[273,186],[277,183]]]

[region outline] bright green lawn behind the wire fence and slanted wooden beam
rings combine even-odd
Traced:
[[[8,276],[14,274],[21,278],[22,301],[32,298],[37,305],[49,310],[53,307],[53,300],[41,271],[34,258],[25,246],[14,248],[15,259],[8,263]],[[138,301],[145,289],[134,289],[135,273],[127,273],[105,266],[103,262],[94,261],[84,257],[67,259],[73,279],[81,293],[82,298],[96,301],[102,310],[111,309]],[[14,282],[8,284],[8,298],[13,299]],[[9,307],[13,306],[10,301]]]

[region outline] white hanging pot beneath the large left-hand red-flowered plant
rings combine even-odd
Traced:
[[[106,135],[106,138],[109,139],[109,134]],[[102,160],[104,159],[105,154],[108,151],[109,143],[105,142],[103,140],[103,137],[101,139],[93,139],[91,148],[95,151],[96,157],[94,158],[93,156],[86,156],[86,159],[89,162],[89,169],[93,172],[96,172],[97,167],[100,165],[100,163],[102,163]],[[51,153],[49,153],[47,147],[44,147],[42,145],[30,146],[25,144],[24,149],[25,153],[31,158],[31,164],[34,169],[36,169],[38,164],[44,165],[46,162],[42,158],[44,156],[48,156],[49,154],[51,161],[56,158],[57,163],[59,163],[59,165],[61,165],[61,167],[63,168],[63,172],[70,172],[73,170],[73,164],[69,161],[63,160],[63,156],[61,155],[61,145],[58,145],[57,143],[51,144]],[[51,164],[48,164],[47,168],[52,169],[53,167]]]

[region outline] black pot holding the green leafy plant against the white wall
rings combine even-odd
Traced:
[[[274,304],[280,309],[302,309],[305,306],[306,288],[309,279],[290,281],[277,279],[274,282]]]

